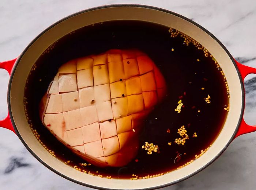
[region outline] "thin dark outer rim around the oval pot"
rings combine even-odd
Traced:
[[[211,38],[213,38],[222,48],[223,50],[226,52],[226,54],[229,56],[229,58],[231,59],[231,61],[233,62],[233,65],[234,67],[236,68],[236,71],[237,71],[237,74],[238,74],[238,77],[239,77],[239,80],[240,80],[240,86],[241,86],[241,92],[242,92],[242,105],[241,105],[241,112],[240,112],[240,117],[239,117],[239,120],[238,120],[238,123],[237,123],[237,126],[236,126],[236,129],[233,133],[233,135],[231,136],[231,138],[229,139],[228,143],[225,145],[225,147],[223,147],[223,149],[217,154],[215,155],[215,157],[210,161],[208,162],[207,164],[205,164],[203,167],[199,168],[198,170],[196,170],[195,172],[193,172],[192,174],[190,175],[187,175],[181,179],[178,179],[176,181],[173,181],[173,182],[170,182],[170,183],[165,183],[163,185],[159,185],[159,186],[152,186],[152,187],[148,187],[148,188],[143,188],[143,189],[137,189],[137,190],[151,190],[151,189],[159,189],[159,188],[163,188],[163,187],[167,187],[167,186],[170,186],[170,185],[174,185],[178,182],[181,182],[181,181],[184,181],[185,179],[188,179],[190,177],[192,177],[193,175],[199,173],[200,171],[202,171],[204,168],[206,168],[207,166],[209,166],[211,163],[213,163],[225,150],[226,148],[229,146],[229,144],[233,141],[238,129],[239,129],[239,126],[241,124],[241,121],[242,121],[242,117],[243,117],[243,113],[244,113],[244,107],[245,107],[245,92],[244,92],[244,84],[243,84],[243,81],[242,81],[242,77],[241,77],[241,74],[238,70],[238,67],[236,65],[236,62],[234,61],[234,58],[231,56],[231,54],[229,53],[229,51],[226,49],[226,47],[213,35],[211,34],[211,32],[209,32],[208,30],[206,30],[206,28],[202,27],[201,25],[197,24],[196,22],[194,22],[193,20],[191,19],[188,19],[187,17],[185,16],[182,16],[178,13],[175,13],[175,12],[172,12],[172,11],[169,11],[169,10],[166,10],[166,9],[162,9],[162,8],[158,8],[158,7],[153,7],[153,6],[149,6],[149,5],[141,5],[141,4],[111,4],[111,5],[102,5],[102,6],[98,6],[98,7],[93,7],[93,8],[89,8],[89,9],[85,9],[83,11],[79,11],[79,12],[76,12],[76,13],[73,13],[69,16],[66,16],[64,17],[63,19],[60,19],[59,21],[53,23],[52,25],[50,25],[49,27],[47,27],[44,31],[42,31],[40,34],[38,34],[28,45],[27,47],[22,51],[22,53],[20,54],[20,56],[16,59],[16,62],[12,68],[12,71],[11,71],[11,75],[10,75],[10,81],[9,81],[9,84],[8,84],[8,91],[7,91],[7,104],[8,104],[8,111],[9,111],[9,114],[10,114],[10,120],[11,120],[11,123],[12,123],[12,126],[14,127],[14,130],[15,130],[15,133],[16,135],[19,137],[19,139],[22,141],[22,143],[24,144],[24,146],[27,148],[27,150],[30,152],[30,154],[32,154],[39,162],[41,162],[45,167],[47,167],[49,170],[53,171],[54,173],[60,175],[61,177],[65,178],[65,179],[68,179],[69,181],[72,181],[72,182],[75,182],[79,185],[83,185],[83,186],[86,186],[86,187],[90,187],[90,188],[94,188],[94,189],[100,189],[100,190],[112,190],[112,189],[109,189],[109,188],[106,188],[106,187],[98,187],[98,186],[94,186],[94,185],[90,185],[90,184],[87,184],[87,183],[83,183],[83,182],[80,182],[80,181],[77,181],[73,178],[70,178],[64,174],[62,174],[61,172],[55,170],[54,168],[50,167],[48,164],[46,164],[43,160],[41,160],[31,149],[30,147],[25,143],[25,141],[23,140],[22,136],[20,135],[18,129],[17,129],[17,126],[14,122],[14,118],[12,116],[12,111],[11,111],[11,97],[10,97],[10,91],[11,91],[11,84],[12,84],[12,79],[14,77],[14,73],[15,73],[15,70],[19,64],[19,61],[20,59],[23,57],[23,55],[26,53],[26,51],[29,49],[29,47],[41,36],[43,35],[46,31],[50,30],[52,27],[56,26],[57,24],[69,19],[69,18],[72,18],[76,15],[79,15],[79,14],[82,14],[82,13],[85,13],[85,12],[89,12],[89,11],[94,11],[94,10],[97,10],[97,9],[105,9],[105,8],[113,8],[113,7],[139,7],[139,8],[146,8],[146,9],[153,9],[153,10],[156,10],[156,11],[162,11],[162,12],[165,12],[165,13],[168,13],[168,14],[171,14],[171,15],[175,15],[177,17],[180,17],[190,23],[192,23],[193,25],[195,25],[196,27],[199,27],[201,30],[203,30],[204,32],[206,32],[209,36],[211,36]]]

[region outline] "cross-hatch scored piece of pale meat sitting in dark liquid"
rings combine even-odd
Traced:
[[[63,64],[39,112],[75,154],[97,166],[120,167],[136,156],[143,122],[165,96],[165,79],[146,54],[109,50]]]

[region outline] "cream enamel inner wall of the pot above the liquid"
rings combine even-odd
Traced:
[[[31,133],[23,108],[23,92],[27,76],[34,63],[45,49],[62,36],[84,26],[111,20],[140,20],[175,28],[191,36],[206,47],[222,67],[231,94],[229,100],[230,111],[223,129],[212,144],[212,147],[204,156],[197,159],[196,162],[193,162],[180,170],[170,172],[169,174],[157,178],[136,181],[118,179],[109,180],[106,178],[84,175],[82,172],[78,172],[72,167],[65,165],[63,162],[50,155],[48,151],[38,143],[33,133]],[[229,55],[215,39],[199,27],[178,16],[155,9],[141,7],[109,7],[72,16],[51,27],[44,32],[44,34],[39,36],[39,38],[24,52],[16,67],[11,83],[10,101],[12,117],[20,136],[31,151],[53,170],[79,183],[89,184],[96,187],[109,189],[144,189],[179,181],[182,178],[192,175],[203,168],[207,163],[211,162],[211,160],[226,147],[236,131],[242,108],[242,91],[236,67],[233,65]]]

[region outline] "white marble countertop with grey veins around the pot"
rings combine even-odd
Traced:
[[[255,0],[1,0],[0,60],[17,57],[35,36],[71,13],[105,4],[147,4],[180,13],[207,28],[245,65],[256,67]],[[253,78],[254,77],[254,78]],[[0,70],[0,118],[7,114],[8,75]],[[246,82],[245,119],[256,124],[256,77]],[[238,137],[199,174],[165,189],[252,190],[256,187],[256,132]],[[59,177],[39,163],[18,137],[0,128],[0,189],[90,189]]]

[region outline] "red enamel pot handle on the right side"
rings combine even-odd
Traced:
[[[235,60],[235,62],[236,62],[236,65],[238,67],[238,70],[240,71],[243,82],[244,82],[244,78],[248,74],[256,74],[256,68],[242,65],[241,63],[238,63],[236,60]],[[245,104],[245,102],[244,102],[244,104]],[[256,125],[255,126],[248,125],[248,124],[245,123],[244,118],[242,118],[240,127],[237,131],[237,134],[236,134],[235,138],[242,135],[242,134],[246,134],[246,133],[250,133],[250,132],[254,132],[254,131],[256,131]]]

